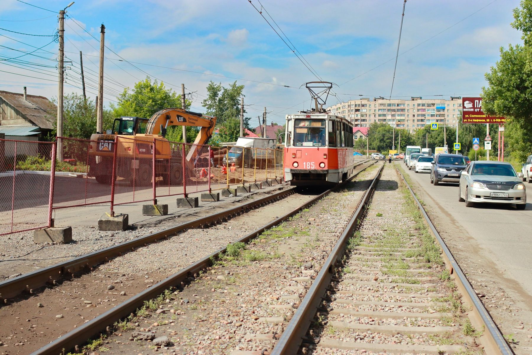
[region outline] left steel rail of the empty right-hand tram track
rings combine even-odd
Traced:
[[[303,341],[303,337],[309,329],[311,320],[314,318],[319,304],[322,301],[322,297],[325,295],[327,287],[331,283],[332,277],[335,273],[335,266],[337,262],[342,260],[342,255],[345,251],[345,244],[355,232],[358,221],[364,214],[365,208],[370,200],[371,193],[373,192],[373,189],[375,189],[375,185],[377,184],[383,169],[384,165],[380,167],[377,175],[371,181],[370,186],[362,197],[359,207],[356,209],[353,217],[344,229],[344,233],[342,233],[342,236],[340,236],[334,249],[332,249],[329,257],[321,267],[318,276],[316,276],[312,282],[309,291],[307,291],[305,297],[301,301],[301,304],[292,316],[292,319],[290,319],[285,331],[282,332],[279,341],[273,347],[271,355],[297,354],[298,349]]]

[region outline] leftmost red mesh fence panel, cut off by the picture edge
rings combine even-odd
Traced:
[[[0,235],[48,226],[53,146],[0,139]]]

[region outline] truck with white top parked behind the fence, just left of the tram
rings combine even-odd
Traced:
[[[235,145],[227,153],[227,157],[223,157],[223,163],[229,165],[235,163],[238,167],[252,167],[256,161],[257,167],[265,167],[267,163],[268,166],[273,166],[275,148],[276,139],[274,138],[238,137]]]

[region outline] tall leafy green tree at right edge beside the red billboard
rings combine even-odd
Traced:
[[[510,120],[505,131],[510,151],[523,161],[532,152],[532,0],[522,0],[513,18],[511,26],[521,31],[523,44],[500,48],[501,57],[486,73],[488,86],[481,96],[485,113]]]

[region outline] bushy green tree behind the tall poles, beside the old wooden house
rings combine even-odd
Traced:
[[[52,98],[57,104],[57,98]],[[53,120],[54,129],[52,136],[57,135],[57,113]],[[112,128],[113,115],[110,110],[103,110],[104,129]],[[96,104],[94,100],[84,100],[82,95],[76,93],[66,94],[63,97],[63,136],[69,138],[89,139],[96,133]]]

